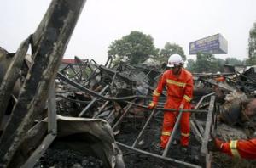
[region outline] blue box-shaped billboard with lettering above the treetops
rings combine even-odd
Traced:
[[[228,42],[221,34],[189,42],[189,54],[196,53],[227,54]]]

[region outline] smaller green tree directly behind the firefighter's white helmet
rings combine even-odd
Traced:
[[[160,50],[160,56],[157,59],[162,63],[166,63],[169,57],[174,53],[179,54],[180,56],[183,57],[184,60],[186,60],[186,56],[184,54],[183,48],[177,45],[176,43],[170,43],[170,42],[166,42],[165,47]]]

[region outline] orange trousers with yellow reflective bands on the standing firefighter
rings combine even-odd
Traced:
[[[162,148],[166,148],[166,145],[168,143],[168,140],[172,134],[173,127],[175,125],[175,122],[177,120],[178,112],[168,112],[166,111],[164,113],[164,120],[163,120],[163,126],[162,126],[162,134],[161,134],[161,143],[160,146]],[[189,118],[190,113],[189,112],[183,112],[180,120],[180,128],[181,128],[181,145],[188,146],[189,145],[189,131],[190,131],[190,125],[189,125]]]

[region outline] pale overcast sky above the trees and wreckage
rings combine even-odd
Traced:
[[[14,53],[42,20],[50,0],[5,0],[0,5],[0,46]],[[256,22],[256,0],[87,0],[64,58],[95,59],[104,64],[114,40],[141,31],[154,38],[156,48],[166,42],[182,46],[221,33],[229,53],[222,59],[247,58],[249,30]]]

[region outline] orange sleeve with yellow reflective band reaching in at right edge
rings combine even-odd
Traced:
[[[237,158],[256,159],[256,138],[249,140],[236,140],[229,143],[222,143],[220,150]]]

